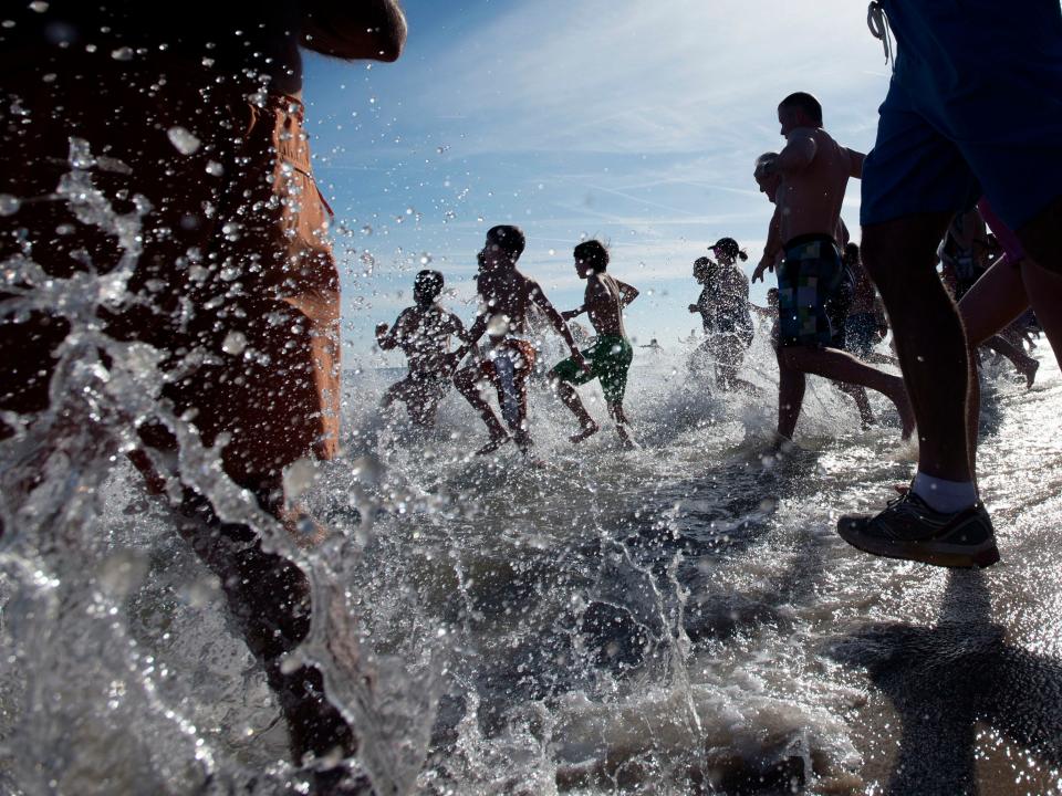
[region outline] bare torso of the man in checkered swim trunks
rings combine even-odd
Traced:
[[[783,243],[805,234],[827,234],[836,240],[841,202],[853,171],[852,153],[822,128],[794,129],[789,140],[808,135],[815,143],[814,157],[802,169],[782,171],[774,197]]]

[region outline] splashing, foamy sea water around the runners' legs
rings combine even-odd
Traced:
[[[1044,347],[1032,390],[986,366],[1003,561],[981,573],[834,533],[910,476],[879,396],[862,431],[812,380],[799,448],[761,455],[762,336],[743,374],[757,396],[715,395],[680,347],[639,349],[635,451],[595,385],[581,391],[602,431],[573,447],[535,381],[543,467],[472,455],[485,430],[456,392],[418,434],[377,408],[400,371],[347,373],[343,455],[291,483],[334,532],[309,566],[332,596],[316,610],[342,608],[330,632],[361,651],[333,678],[356,705],[356,765],[381,793],[1062,792],[1062,380]],[[218,584],[122,457],[92,452],[91,500],[63,493],[0,559],[0,787],[304,793]]]

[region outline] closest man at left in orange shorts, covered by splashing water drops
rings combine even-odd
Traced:
[[[121,303],[98,308],[101,328],[159,352],[160,417],[190,422],[228,478],[298,533],[283,469],[335,453],[340,399],[340,281],[303,129],[300,46],[394,61],[406,35],[397,0],[10,6],[0,94],[20,115],[0,123],[0,192],[23,201],[0,217],[0,261],[15,263],[12,292],[0,287],[0,410],[31,433],[46,417],[71,328],[59,308],[7,310],[19,293],[49,290],[10,258],[27,255],[54,280],[122,264],[113,234],[53,200],[76,137],[94,156],[79,168],[115,212],[132,217],[134,198],[146,199],[135,272]],[[153,420],[138,429],[136,457],[149,478],[178,447]],[[0,444],[12,433],[0,421]],[[302,570],[263,551],[254,530],[221,523],[190,486],[180,507],[179,532],[218,575],[278,696],[294,763],[352,754],[321,673],[281,666],[310,627]]]

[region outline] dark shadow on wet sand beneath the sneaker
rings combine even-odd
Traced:
[[[867,670],[900,715],[886,794],[979,793],[979,724],[1062,766],[1062,661],[1008,645],[989,608],[985,576],[956,570],[936,626],[868,625],[834,646],[832,657]]]

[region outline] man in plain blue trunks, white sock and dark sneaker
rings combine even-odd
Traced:
[[[1062,12],[1058,0],[882,0],[870,19],[886,56],[888,28],[898,53],[864,166],[863,256],[920,444],[910,491],[837,530],[875,555],[989,566],[999,552],[964,422],[972,369],[934,255],[951,217],[983,195],[1038,264],[1062,272]]]

